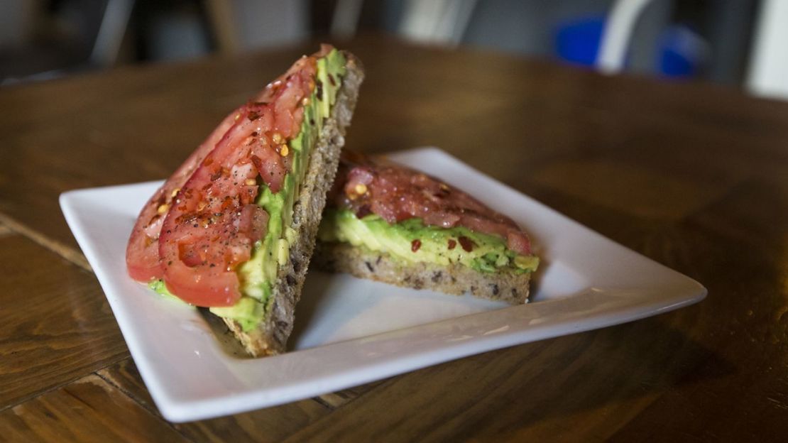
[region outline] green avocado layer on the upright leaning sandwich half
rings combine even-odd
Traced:
[[[294,199],[307,172],[310,151],[336,102],[340,82],[333,79],[344,76],[345,62],[344,55],[336,49],[318,58],[316,83],[320,86],[315,87],[309,103],[304,106],[299,133],[288,142],[292,170],[284,177],[279,192],[273,193],[263,184],[258,195],[256,203],[269,214],[268,230],[266,236],[255,243],[251,259],[238,268],[242,297],[233,306],[210,308],[215,315],[238,322],[244,331],[255,329],[265,318],[269,303],[273,301],[272,285],[277,280],[279,266],[286,264],[290,257],[290,245],[296,240],[296,231],[290,227]],[[153,281],[149,286],[159,294],[172,296],[162,281]]]

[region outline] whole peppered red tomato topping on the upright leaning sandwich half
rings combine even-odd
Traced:
[[[257,184],[247,181],[256,182],[259,174],[273,192],[281,188],[291,163],[281,155],[281,143],[298,132],[302,100],[314,88],[316,58],[329,50],[323,47],[299,59],[248,105],[225,117],[154,193],[128,241],[126,264],[132,278],[164,278],[170,292],[201,306],[237,300],[238,279],[232,271],[249,259],[268,219],[254,205]]]

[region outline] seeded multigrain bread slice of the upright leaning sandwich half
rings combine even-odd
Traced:
[[[364,79],[361,61],[346,51],[343,54],[347,60],[346,73],[331,115],[325,121],[318,143],[310,154],[307,173],[294,200],[291,227],[297,236],[290,246],[288,262],[279,266],[277,281],[273,284],[273,292],[266,305],[266,317],[256,329],[248,332],[244,332],[238,322],[223,318],[251,356],[271,356],[284,352],[292,333],[296,303],[301,296],[314,251],[314,239],[325,207],[325,194],[336,175],[345,131],[350,125],[359,87]]]

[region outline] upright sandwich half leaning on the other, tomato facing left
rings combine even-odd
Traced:
[[[362,79],[323,45],[225,117],[143,207],[128,274],[284,352]]]

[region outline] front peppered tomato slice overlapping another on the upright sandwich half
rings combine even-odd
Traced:
[[[198,166],[169,209],[158,242],[170,292],[197,306],[229,306],[240,298],[236,267],[251,258],[265,225],[250,229],[259,186],[252,145],[270,150],[257,132],[266,105],[247,105],[240,118]],[[257,136],[252,134],[257,133]],[[256,209],[255,209],[256,208]]]

